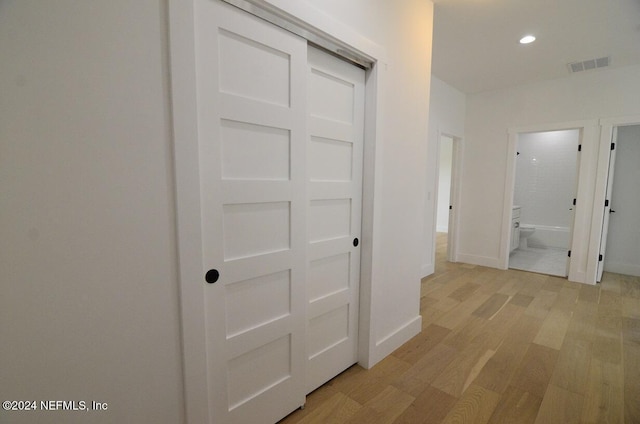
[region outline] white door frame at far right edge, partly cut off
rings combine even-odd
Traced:
[[[591,238],[589,239],[589,253],[587,258],[587,278],[589,284],[595,284],[598,277],[598,256],[602,242],[602,226],[604,225],[607,196],[607,176],[609,174],[609,158],[611,155],[611,138],[614,127],[640,125],[640,115],[622,116],[617,118],[600,119],[600,142],[598,150],[598,165],[596,171],[596,188],[594,193]]]

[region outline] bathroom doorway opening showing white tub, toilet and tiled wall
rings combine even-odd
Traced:
[[[580,130],[520,133],[508,267],[568,275]]]

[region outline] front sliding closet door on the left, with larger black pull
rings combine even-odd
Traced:
[[[196,80],[209,415],[305,401],[307,44],[198,0]]]

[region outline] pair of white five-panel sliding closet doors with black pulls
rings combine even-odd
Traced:
[[[209,415],[270,424],[357,361],[364,71],[218,0],[195,24]]]

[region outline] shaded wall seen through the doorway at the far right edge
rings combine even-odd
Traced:
[[[618,128],[604,270],[640,276],[640,125]]]

